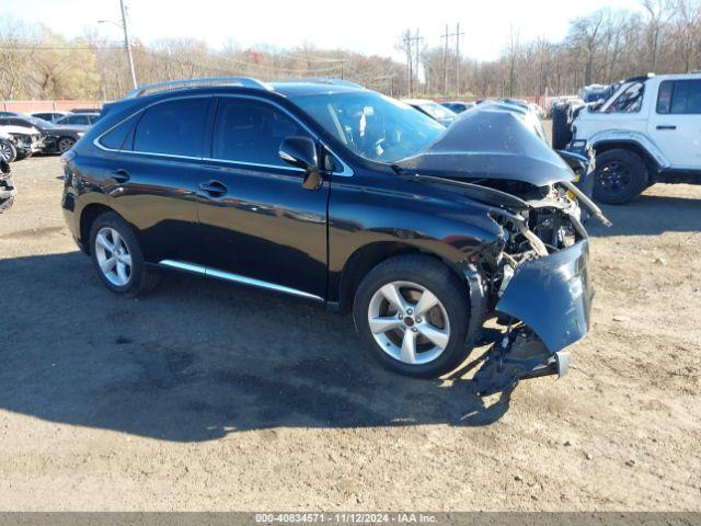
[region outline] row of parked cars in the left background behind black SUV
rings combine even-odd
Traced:
[[[0,157],[13,162],[34,153],[64,153],[100,118],[96,112],[0,112]]]

